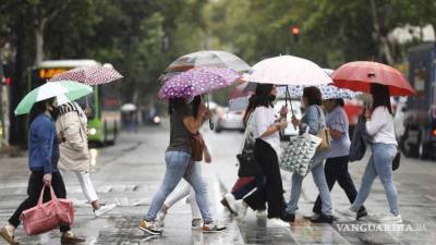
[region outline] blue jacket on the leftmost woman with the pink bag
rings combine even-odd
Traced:
[[[52,173],[58,171],[59,144],[53,120],[41,113],[28,131],[28,168],[32,171]]]

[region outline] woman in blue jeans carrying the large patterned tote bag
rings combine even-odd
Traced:
[[[305,108],[305,113],[301,121],[293,118],[292,124],[299,126],[300,134],[308,132],[310,134],[317,135],[318,132],[326,126],[326,120],[324,112],[320,108],[322,95],[317,87],[305,87],[303,90],[302,105]],[[314,223],[331,223],[331,197],[328,189],[326,175],[324,173],[323,162],[327,156],[327,150],[317,151],[312,159],[311,172],[318,187],[320,199],[322,199],[322,211],[320,216],[312,219]],[[295,211],[298,210],[299,199],[301,195],[301,188],[303,183],[303,176],[298,173],[292,174],[292,187],[291,198],[286,209],[284,220],[288,222],[295,221]]]

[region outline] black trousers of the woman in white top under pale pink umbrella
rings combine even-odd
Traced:
[[[284,211],[284,198],[276,150],[268,143],[257,138],[254,144],[254,157],[264,172],[266,184],[257,187],[244,201],[254,210],[264,209],[265,203],[268,203],[268,218],[279,218]]]

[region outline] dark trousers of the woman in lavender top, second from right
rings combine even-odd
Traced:
[[[349,156],[327,158],[324,171],[326,173],[328,188],[331,191],[335,183],[338,182],[341,188],[346,192],[350,203],[353,204],[355,197],[358,196],[358,191],[355,189],[353,179],[351,179],[351,175],[348,172],[348,162]],[[364,209],[365,207],[362,206],[361,210]],[[320,213],[320,210],[322,200],[318,195],[315,201],[315,206],[313,208],[313,212]]]

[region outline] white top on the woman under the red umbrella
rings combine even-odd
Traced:
[[[373,111],[371,121],[366,122],[366,131],[372,143],[397,145],[393,118],[386,107],[377,107]]]

